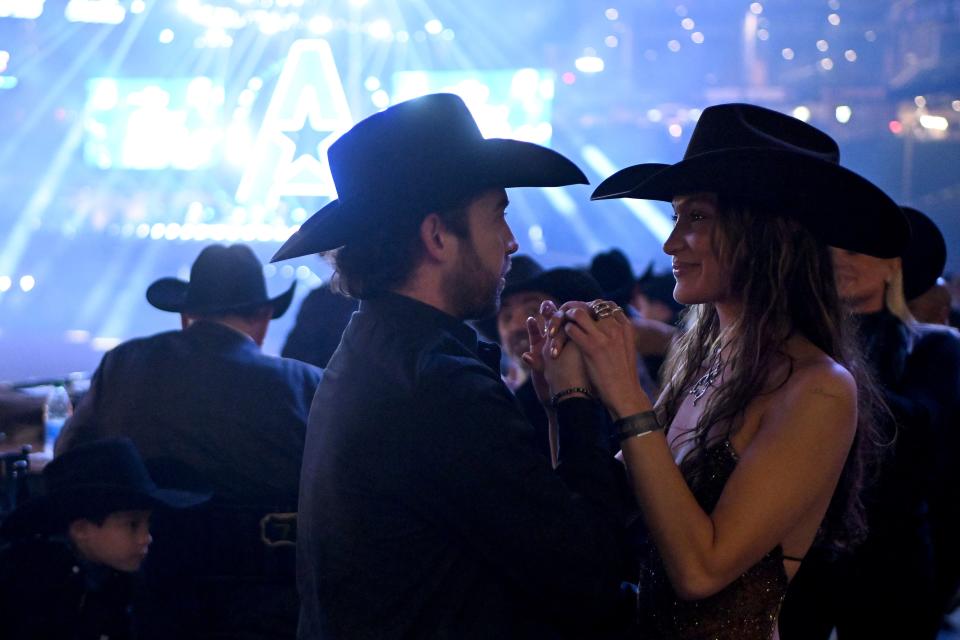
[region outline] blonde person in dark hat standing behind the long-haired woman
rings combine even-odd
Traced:
[[[946,245],[924,214],[903,211],[912,234],[902,258],[832,249],[890,409],[878,420],[886,446],[864,494],[866,539],[840,556],[810,554],[784,602],[783,640],[827,640],[834,627],[840,640],[933,640],[960,584],[960,334],[910,315],[907,300],[936,283]]]

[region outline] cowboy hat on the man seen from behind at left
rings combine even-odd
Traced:
[[[147,302],[163,311],[211,315],[270,305],[279,318],[293,300],[294,282],[275,298],[267,297],[263,266],[244,244],[204,247],[190,267],[190,282],[160,278],[147,288]]]

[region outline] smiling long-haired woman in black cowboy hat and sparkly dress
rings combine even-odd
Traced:
[[[828,245],[892,257],[908,226],[838,160],[836,143],[800,120],[717,105],[682,161],[623,169],[594,192],[673,204],[663,248],[674,297],[695,316],[656,408],[612,303],[545,309],[546,335],[531,338],[529,358],[548,379],[583,366],[615,418],[645,524],[638,638],[770,640],[818,535],[848,542],[862,529],[856,480],[870,416],[858,413],[866,396]],[[571,348],[582,365],[563,360]]]

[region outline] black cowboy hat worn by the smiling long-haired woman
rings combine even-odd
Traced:
[[[703,110],[683,160],[621,169],[592,199],[670,202],[713,192],[794,215],[831,246],[899,256],[909,238],[899,207],[839,162],[833,138],[805,122],[755,105],[721,104]]]

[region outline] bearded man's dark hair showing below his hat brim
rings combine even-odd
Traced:
[[[467,210],[476,197],[464,197],[457,204],[438,212],[440,219],[458,238],[470,235]],[[350,244],[324,254],[332,259],[335,291],[361,300],[393,290],[409,280],[420,264],[422,216],[396,216],[375,226]]]

